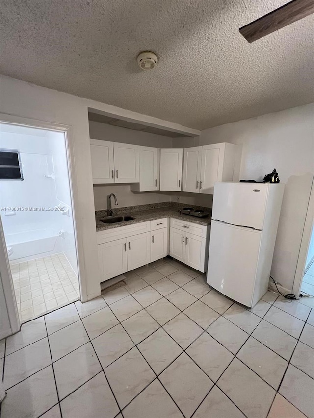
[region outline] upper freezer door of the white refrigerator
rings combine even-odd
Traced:
[[[215,183],[212,219],[263,229],[269,184]]]

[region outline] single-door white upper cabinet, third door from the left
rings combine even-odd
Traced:
[[[131,190],[148,192],[159,190],[160,149],[139,146],[139,183]]]

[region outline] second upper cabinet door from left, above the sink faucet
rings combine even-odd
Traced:
[[[116,183],[139,182],[139,146],[113,143]]]

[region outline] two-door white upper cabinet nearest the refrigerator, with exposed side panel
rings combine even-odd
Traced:
[[[203,145],[184,149],[183,191],[212,194],[216,181],[232,181],[236,145]]]

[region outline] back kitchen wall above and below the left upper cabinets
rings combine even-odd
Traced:
[[[89,121],[89,134],[93,139],[145,145],[146,147],[172,147],[172,138],[170,137],[100,122]],[[130,184],[97,184],[94,185],[95,210],[107,209],[107,197],[110,193],[117,196],[118,206],[116,207],[171,201],[171,194],[167,192],[133,192],[130,190]]]

